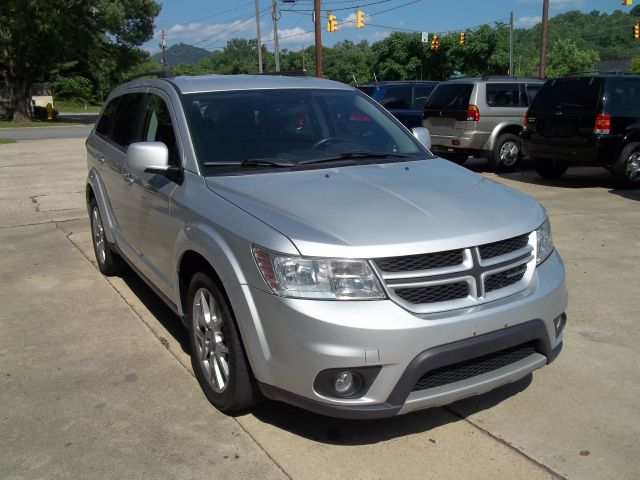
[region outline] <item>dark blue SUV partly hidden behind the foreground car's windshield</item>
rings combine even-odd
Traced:
[[[397,80],[357,85],[411,130],[422,126],[422,107],[438,82]]]

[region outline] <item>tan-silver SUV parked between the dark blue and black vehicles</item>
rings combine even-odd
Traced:
[[[496,171],[522,163],[519,134],[524,114],[542,85],[537,78],[461,78],[440,83],[427,100],[424,127],[432,151],[463,164],[469,156],[486,157]]]

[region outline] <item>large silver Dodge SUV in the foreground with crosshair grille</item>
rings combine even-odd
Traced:
[[[173,308],[224,412],[378,418],[515,381],[562,346],[545,210],[417,138],[328,80],[121,85],[87,140],[98,266]]]

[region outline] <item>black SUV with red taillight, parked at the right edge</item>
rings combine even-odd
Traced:
[[[545,178],[599,165],[640,187],[640,75],[547,80],[525,116],[522,149]]]

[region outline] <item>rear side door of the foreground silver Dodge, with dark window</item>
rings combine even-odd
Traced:
[[[143,93],[127,93],[111,100],[96,127],[97,140],[93,144],[107,193],[107,208],[115,223],[116,242],[129,258],[138,254],[134,242],[138,221],[127,201],[130,180],[125,158],[127,147],[138,135],[143,97]]]

